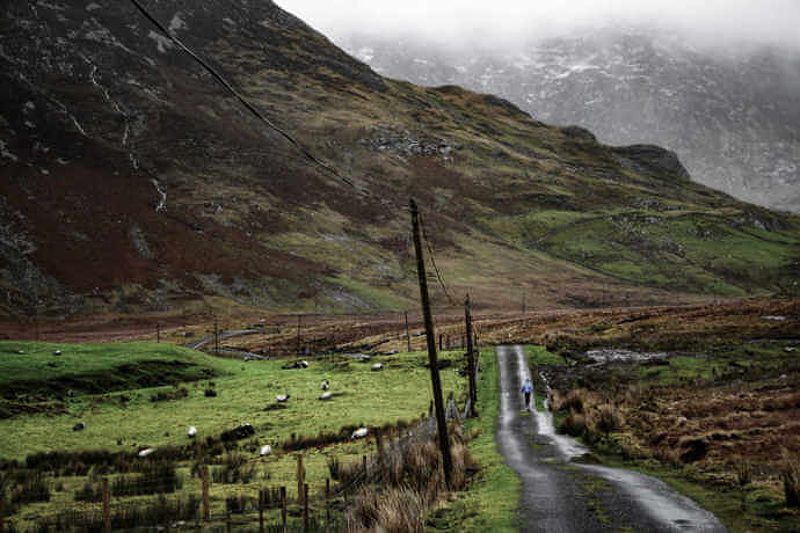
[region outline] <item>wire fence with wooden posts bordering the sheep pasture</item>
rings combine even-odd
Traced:
[[[446,416],[460,420],[469,403],[459,409],[454,397],[447,401]],[[463,413],[463,414],[462,414]],[[403,461],[415,444],[435,439],[436,420],[428,416],[415,426],[384,441],[373,430],[376,452],[363,455],[358,463],[345,465],[346,477],[327,479],[324,490],[311,490],[305,483],[302,457],[298,456],[298,484],[270,486],[264,483],[257,494],[252,485],[235,489],[234,483],[214,483],[207,465],[194,465],[189,479],[177,475],[175,464],[154,463],[131,474],[113,477],[90,475],[83,488],[75,492],[74,503],[57,514],[22,522],[5,522],[3,531],[61,532],[116,530],[152,531],[202,528],[209,531],[345,531],[347,508],[368,485],[388,479],[391,467]],[[217,465],[219,469],[219,465]],[[330,467],[329,467],[330,468]],[[332,470],[332,469],[331,469]],[[302,473],[301,473],[302,472]],[[334,472],[331,472],[332,477]],[[224,496],[210,488],[224,485]],[[0,509],[2,511],[2,509]],[[0,518],[0,524],[3,524]],[[0,526],[3,527],[3,526]]]

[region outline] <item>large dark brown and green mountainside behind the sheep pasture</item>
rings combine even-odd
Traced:
[[[385,79],[270,1],[143,4],[301,147],[133,3],[4,3],[5,315],[413,308],[410,196],[437,306],[444,286],[486,307],[797,291],[797,217],[674,153]]]

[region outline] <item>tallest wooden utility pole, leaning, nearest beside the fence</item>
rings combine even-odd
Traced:
[[[414,251],[417,254],[417,276],[419,277],[419,295],[422,300],[422,316],[425,321],[425,337],[428,344],[428,362],[431,367],[431,384],[433,385],[433,402],[436,408],[436,426],[439,433],[439,448],[442,452],[442,466],[445,484],[450,487],[453,460],[450,456],[450,438],[447,434],[447,420],[442,399],[442,382],[439,379],[439,361],[436,353],[436,332],[433,329],[431,302],[428,297],[428,279],[425,273],[425,258],[422,255],[422,239],[419,231],[419,210],[417,203],[411,198],[411,226],[414,233]]]

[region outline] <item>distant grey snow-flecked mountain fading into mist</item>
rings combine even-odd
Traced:
[[[800,211],[800,53],[721,49],[680,36],[597,29],[499,50],[354,34],[345,49],[381,74],[506,98],[602,142],[675,151],[693,179]]]

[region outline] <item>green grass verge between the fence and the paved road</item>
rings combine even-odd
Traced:
[[[431,518],[429,526],[437,531],[518,530],[516,511],[522,483],[505,464],[495,439],[500,395],[494,348],[481,350],[478,387],[480,417],[468,420],[466,428],[476,435],[469,450],[481,471],[466,492],[456,494]]]

